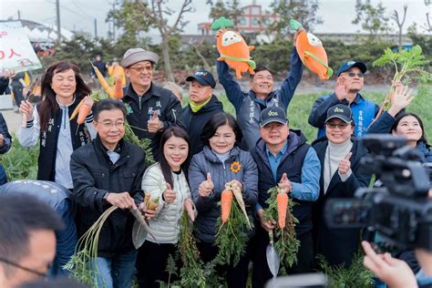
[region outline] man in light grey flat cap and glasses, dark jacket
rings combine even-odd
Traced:
[[[181,105],[175,95],[152,82],[158,60],[156,53],[130,48],[120,63],[130,80],[123,98],[127,104],[128,123],[139,139],[151,139],[155,160],[159,160],[161,131],[177,124],[181,115]]]

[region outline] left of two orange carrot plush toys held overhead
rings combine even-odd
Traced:
[[[243,72],[255,73],[253,69],[256,65],[249,53],[254,46],[248,46],[240,33],[226,29],[232,26],[234,25],[231,20],[221,17],[211,25],[211,29],[221,30],[216,43],[221,54],[218,60],[225,61],[229,67],[235,70],[235,77],[241,79]]]

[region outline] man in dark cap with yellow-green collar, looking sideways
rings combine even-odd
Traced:
[[[216,81],[209,71],[201,69],[186,81],[190,82],[190,102],[183,108],[181,122],[189,133],[190,155],[195,155],[202,150],[202,129],[213,115],[223,112],[223,106],[213,95]]]

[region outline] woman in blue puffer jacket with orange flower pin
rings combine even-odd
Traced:
[[[218,205],[221,191],[228,182],[237,185],[242,190],[246,209],[252,215],[252,208],[258,200],[258,170],[251,154],[238,146],[242,141],[242,131],[231,115],[214,115],[203,129],[201,141],[204,148],[190,162],[189,181],[198,211],[194,223],[198,248],[203,262],[211,262],[218,253],[214,242],[218,229],[216,221],[221,215]],[[231,165],[235,162],[236,169]],[[227,273],[229,287],[246,286],[250,258],[248,251],[249,245],[235,267],[218,267],[219,271]]]

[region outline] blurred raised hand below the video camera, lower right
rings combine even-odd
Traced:
[[[406,262],[393,258],[389,253],[376,254],[369,242],[362,242],[362,246],[365,267],[389,288],[417,287],[416,276]]]

